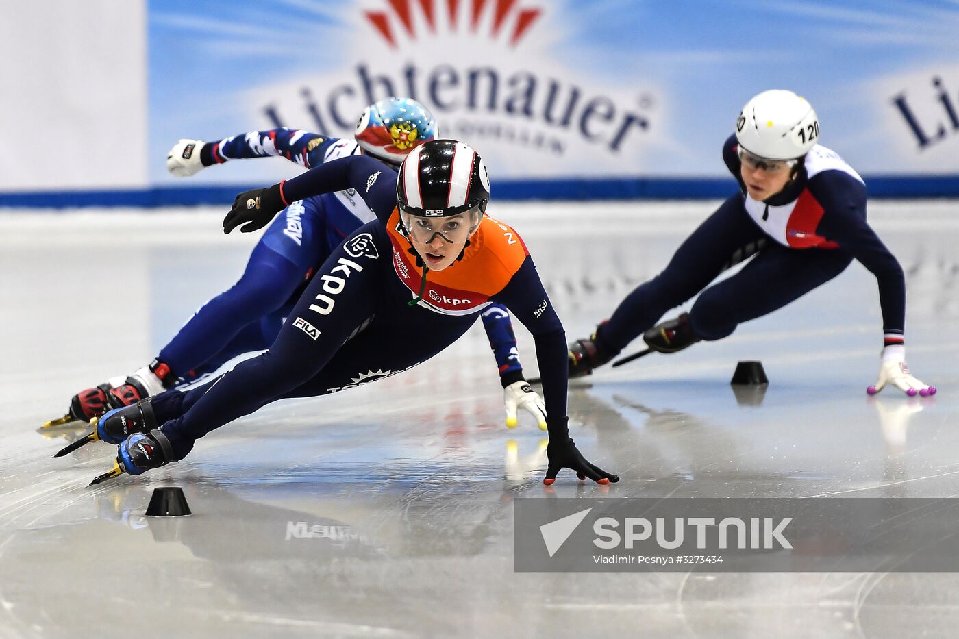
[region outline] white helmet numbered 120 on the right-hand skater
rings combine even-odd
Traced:
[[[753,96],[736,121],[739,146],[768,159],[802,157],[819,142],[816,111],[792,91],[771,89]]]

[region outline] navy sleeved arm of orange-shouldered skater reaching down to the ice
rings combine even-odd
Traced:
[[[523,265],[513,274],[503,291],[493,298],[506,306],[532,334],[536,342],[536,359],[542,378],[550,439],[568,438],[566,333],[531,257],[526,256]]]

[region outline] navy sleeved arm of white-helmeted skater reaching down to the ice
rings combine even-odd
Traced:
[[[884,331],[905,328],[905,276],[896,257],[866,222],[866,187],[841,171],[824,171],[809,180],[809,192],[824,213],[816,232],[850,251],[876,275]]]

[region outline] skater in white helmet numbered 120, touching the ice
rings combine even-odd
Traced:
[[[739,112],[723,159],[741,193],[723,202],[666,269],[626,296],[591,337],[570,344],[570,375],[589,374],[640,335],[651,351],[664,353],[721,340],[739,323],[825,284],[855,259],[876,276],[882,309],[879,373],[867,392],[892,384],[910,396],[935,394],[905,363],[900,264],[866,222],[863,179],[819,145],[812,106],[792,91],[756,95]],[[710,286],[750,258],[740,272]],[[654,325],[700,292],[689,313]]]

